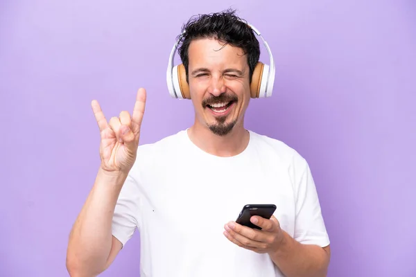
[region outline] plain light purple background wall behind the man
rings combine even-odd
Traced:
[[[246,126],[311,164],[329,276],[416,276],[411,0],[1,1],[0,276],[68,275],[69,231],[99,165],[91,100],[110,118],[146,87],[142,143],[191,125],[191,102],[168,95],[168,55],[191,15],[229,6],[275,56],[273,97],[252,101]],[[138,272],[136,233],[103,276]]]

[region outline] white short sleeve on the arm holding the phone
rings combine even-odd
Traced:
[[[295,157],[292,172],[296,199],[294,239],[302,244],[326,247],[329,235],[309,164],[302,157]]]

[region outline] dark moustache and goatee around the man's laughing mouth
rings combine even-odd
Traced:
[[[209,105],[221,103],[221,102],[237,102],[238,98],[235,95],[230,95],[223,93],[220,96],[211,96],[210,98],[204,99],[202,101],[202,107],[204,109],[209,109]],[[218,136],[225,136],[232,131],[236,125],[237,120],[234,120],[230,123],[225,123],[227,116],[218,116],[216,117],[216,123],[208,125],[209,129],[213,134]]]

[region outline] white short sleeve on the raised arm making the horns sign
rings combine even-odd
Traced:
[[[139,187],[137,179],[130,171],[121,188],[112,218],[112,235],[123,244],[123,247],[137,229],[139,215]]]

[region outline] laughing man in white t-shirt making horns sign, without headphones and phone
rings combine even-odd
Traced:
[[[132,116],[101,132],[101,167],[67,251],[71,276],[107,269],[137,228],[141,276],[326,276],[329,238],[306,161],[284,143],[244,128],[259,42],[234,11],[184,26],[180,56],[195,122],[139,145],[146,91]],[[261,230],[236,224],[245,204],[275,204]]]

